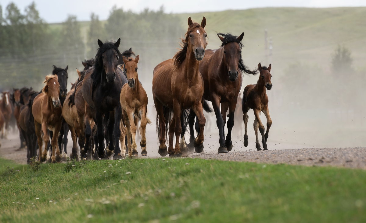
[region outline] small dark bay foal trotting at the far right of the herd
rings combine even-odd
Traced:
[[[244,88],[243,92],[243,120],[245,125],[245,134],[244,134],[244,146],[248,146],[248,134],[247,134],[247,126],[248,126],[248,111],[249,109],[253,109],[255,119],[254,119],[254,132],[255,132],[255,139],[257,140],[255,143],[255,147],[257,150],[261,150],[261,144],[258,140],[258,126],[259,132],[262,135],[262,144],[263,150],[267,150],[267,138],[268,138],[268,131],[272,125],[272,119],[269,116],[269,109],[268,109],[268,96],[266,94],[267,90],[272,88],[271,82],[271,65],[268,66],[261,66],[261,63],[258,64],[258,70],[260,72],[260,76],[258,78],[257,84],[250,84]],[[264,126],[261,122],[260,115],[261,111],[267,118],[267,131],[264,134]]]

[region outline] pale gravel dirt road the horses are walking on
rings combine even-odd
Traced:
[[[71,141],[71,140],[70,140]],[[72,143],[68,144],[71,151]],[[290,145],[283,145],[285,148]],[[17,134],[10,134],[8,139],[1,140],[0,157],[11,159],[19,164],[26,164],[27,151],[18,150]],[[150,147],[153,148],[153,147]],[[267,151],[252,151],[243,149],[229,153],[217,154],[215,150],[205,147],[205,154],[193,153],[192,158],[219,159],[239,162],[256,162],[263,164],[290,164],[305,166],[337,166],[344,168],[366,169],[366,147],[354,148],[304,148],[304,149],[274,149]],[[148,158],[160,157],[157,154]]]

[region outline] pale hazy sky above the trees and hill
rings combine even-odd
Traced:
[[[116,5],[124,10],[141,12],[144,8],[157,10],[161,5],[165,12],[207,12],[225,9],[247,9],[262,7],[357,7],[366,6],[365,0],[34,0],[41,18],[48,23],[63,22],[67,15],[76,15],[78,20],[89,20],[90,13],[99,15],[100,20],[108,18],[109,11]],[[5,7],[14,2],[22,12],[32,1],[0,0]],[[5,14],[5,13],[4,13]]]

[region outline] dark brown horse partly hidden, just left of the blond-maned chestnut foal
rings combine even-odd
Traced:
[[[26,103],[20,110],[19,114],[19,127],[20,131],[24,135],[25,143],[27,146],[27,163],[30,163],[30,158],[37,156],[37,135],[34,127],[34,117],[32,114],[32,105],[34,98],[38,95],[38,92],[28,92],[28,103]]]

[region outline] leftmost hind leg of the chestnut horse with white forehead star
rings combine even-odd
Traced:
[[[168,154],[167,145],[165,145],[165,118],[164,118],[164,108],[163,104],[159,100],[154,98],[155,109],[157,113],[157,127],[158,127],[158,137],[159,137],[159,150],[158,153],[165,157]],[[125,119],[126,120],[126,119]]]

